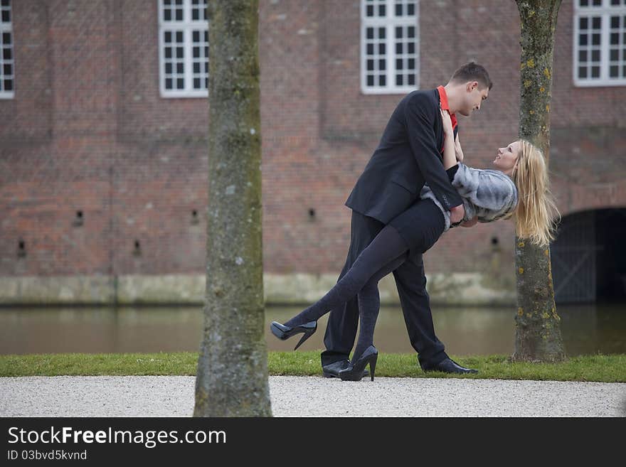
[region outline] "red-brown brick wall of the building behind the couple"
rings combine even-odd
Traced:
[[[120,277],[203,274],[207,100],[161,97],[159,1],[7,3],[15,77],[14,95],[0,99],[5,299],[24,296],[31,279],[107,301]],[[445,84],[467,60],[489,70],[488,102],[460,119],[467,163],[487,167],[518,132],[516,5],[421,0],[416,16],[420,88]],[[574,2],[564,0],[550,168],[565,217],[626,206],[626,84],[575,85],[574,36]],[[361,90],[360,0],[260,0],[259,45],[265,272],[336,277],[349,244],[344,201],[402,94]],[[511,279],[513,237],[510,222],[452,230],[426,254],[427,272]]]

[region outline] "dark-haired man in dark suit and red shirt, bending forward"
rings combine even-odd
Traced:
[[[440,108],[450,112],[455,127],[457,157],[462,158],[455,113],[469,117],[487,99],[492,82],[477,63],[466,63],[455,71],[447,85],[434,90],[413,91],[400,101],[391,115],[381,142],[356,182],[346,205],[352,210],[351,241],[346,264],[339,279],[383,227],[410,205],[419,202],[425,183],[444,208],[451,222],[463,219],[465,210],[442,165],[443,127]],[[393,272],[409,339],[425,371],[476,372],[451,360],[435,336],[433,316],[426,292],[421,254],[413,254]],[[336,377],[349,364],[359,322],[356,297],[334,309],[324,335],[322,370]]]

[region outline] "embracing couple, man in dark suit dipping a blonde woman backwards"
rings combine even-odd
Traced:
[[[390,272],[423,370],[477,372],[450,359],[435,336],[422,254],[450,227],[511,217],[519,237],[546,245],[556,214],[543,155],[528,141],[498,149],[494,169],[462,163],[455,113],[469,117],[491,87],[487,70],[470,62],[445,87],[414,91],[400,101],[346,201],[352,210],[351,242],[339,280],[297,316],[270,324],[281,340],[302,334],[298,348],[330,311],[327,350],[322,353],[325,377],[359,381],[369,365],[373,381],[378,281]],[[349,360],[359,320],[359,338]]]

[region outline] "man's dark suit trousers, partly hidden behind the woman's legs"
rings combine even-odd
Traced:
[[[359,254],[371,243],[385,225],[366,215],[352,211],[350,247],[344,269],[344,277]],[[411,345],[418,353],[421,367],[430,367],[447,358],[445,346],[435,336],[430,299],[426,292],[426,277],[422,254],[416,252],[393,271],[398,296],[404,315],[405,326]],[[338,279],[338,280],[339,280]],[[322,365],[329,365],[349,358],[359,323],[359,304],[356,296],[343,306],[331,310],[328,318]]]

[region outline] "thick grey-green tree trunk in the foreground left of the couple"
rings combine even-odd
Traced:
[[[271,417],[263,302],[258,0],[211,0],[206,304],[195,417]]]

